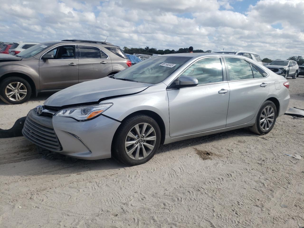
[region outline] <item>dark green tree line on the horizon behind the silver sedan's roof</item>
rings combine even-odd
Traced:
[[[152,54],[160,54],[160,55],[164,55],[164,54],[174,54],[174,53],[187,53],[188,52],[188,47],[185,48],[180,48],[177,51],[172,49],[166,49],[166,50],[157,50],[154,47],[145,47],[145,48],[135,48],[135,47],[123,47],[123,51],[126,54],[134,54],[134,53],[138,53],[138,54],[146,54],[146,55],[152,55]],[[201,49],[197,49],[197,50],[193,50],[193,52],[195,53],[211,53],[211,50],[201,50]]]

